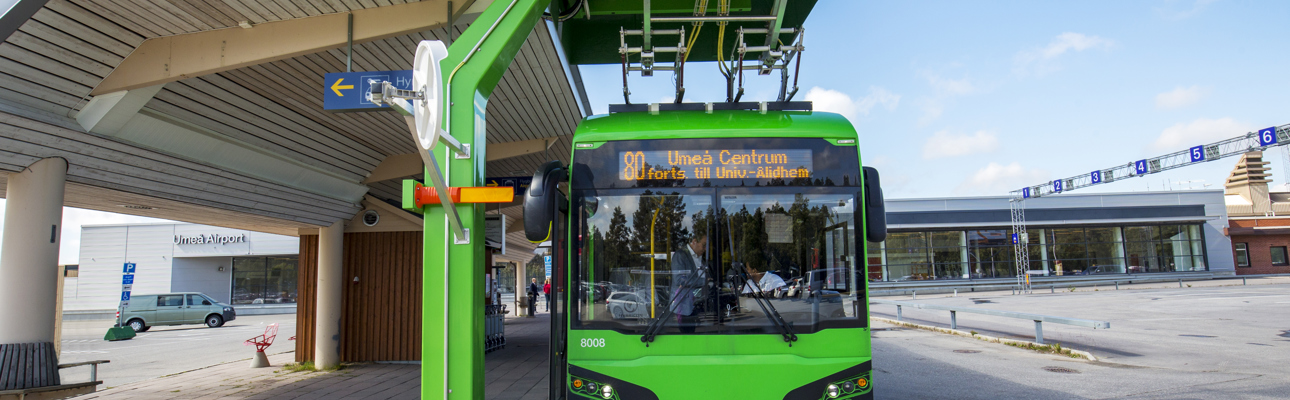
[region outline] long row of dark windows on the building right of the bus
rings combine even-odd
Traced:
[[[869,243],[869,280],[1015,277],[1011,231],[890,232]],[[1046,276],[1206,271],[1198,223],[1027,231],[1031,271]]]

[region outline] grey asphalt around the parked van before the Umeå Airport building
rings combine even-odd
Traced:
[[[277,339],[266,352],[277,354],[295,347],[295,342],[288,341],[295,335],[294,314],[237,316],[221,328],[154,326],[133,339],[103,341],[103,334],[114,323],[64,321],[62,356],[58,361],[111,360],[111,364],[99,365],[98,378],[103,381],[102,387],[114,387],[228,361],[248,360],[249,364],[255,347],[244,346],[243,342],[263,334],[264,326],[273,323],[279,324]],[[85,382],[89,379],[89,368],[64,369],[62,378],[64,382]]]

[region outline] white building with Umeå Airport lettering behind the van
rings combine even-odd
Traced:
[[[295,312],[299,249],[299,237],[194,223],[84,226],[63,310],[116,310],[129,262],[137,294],[201,292],[243,315]]]

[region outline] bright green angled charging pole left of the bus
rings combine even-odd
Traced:
[[[448,186],[484,186],[488,99],[538,23],[546,3],[493,1],[440,62],[449,92],[444,125],[457,141],[470,146],[468,159],[455,157],[445,146],[433,150]],[[468,230],[467,244],[459,244],[449,228],[442,206],[422,209],[426,221],[422,399],[484,399],[484,208],[455,206],[462,227]]]

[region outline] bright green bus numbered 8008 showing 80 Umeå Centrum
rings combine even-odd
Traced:
[[[778,105],[591,116],[534,174],[551,399],[872,399],[877,172],[845,117]]]

